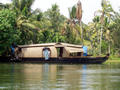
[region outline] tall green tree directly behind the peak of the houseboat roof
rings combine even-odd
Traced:
[[[61,42],[63,40],[63,36],[61,34],[61,30],[64,26],[65,17],[60,14],[60,10],[58,5],[53,4],[51,9],[48,9],[47,12],[45,12],[45,16],[50,21],[51,26],[49,27],[50,32],[54,32],[48,36],[52,38],[52,42]]]

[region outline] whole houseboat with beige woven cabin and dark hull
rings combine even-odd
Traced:
[[[63,64],[101,64],[108,59],[87,55],[87,49],[82,45],[68,43],[45,43],[18,45],[15,48],[14,59],[10,62],[40,62]]]

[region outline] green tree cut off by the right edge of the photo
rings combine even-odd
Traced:
[[[120,56],[120,12],[116,13],[110,29],[112,29],[112,54]]]

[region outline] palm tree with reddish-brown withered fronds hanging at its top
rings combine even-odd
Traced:
[[[81,28],[81,18],[82,18],[82,6],[81,2],[78,1],[77,6],[74,5],[72,8],[68,8],[69,11],[69,17],[68,23],[69,27],[71,28],[71,33],[75,35],[77,41],[81,41],[81,44],[83,44],[83,34],[82,34],[82,28]],[[81,38],[79,37],[81,36]]]

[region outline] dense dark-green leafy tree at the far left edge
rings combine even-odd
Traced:
[[[0,54],[4,54],[12,42],[19,38],[19,31],[16,29],[16,14],[8,9],[0,11]]]

